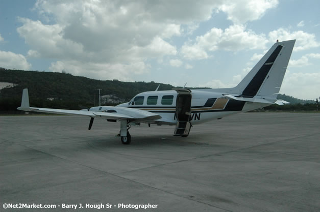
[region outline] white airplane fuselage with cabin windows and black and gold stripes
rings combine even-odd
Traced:
[[[269,105],[228,99],[223,96],[223,93],[214,92],[214,89],[191,90],[191,95],[190,123],[192,125]],[[144,92],[136,95],[130,102],[117,105],[116,108],[109,108],[109,106],[92,107],[90,111],[117,110],[117,107],[134,108],[161,116],[161,119],[155,120],[151,124],[176,125],[177,96],[178,93],[175,90]],[[121,109],[119,108],[119,110]]]

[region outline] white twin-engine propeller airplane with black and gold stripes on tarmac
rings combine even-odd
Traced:
[[[122,144],[130,144],[131,125],[141,123],[175,125],[174,136],[187,137],[196,124],[225,116],[263,108],[272,104],[289,104],[277,96],[296,40],[277,42],[265,53],[253,69],[232,88],[157,89],[143,92],[129,102],[117,106],[99,106],[82,110],[64,110],[30,107],[28,89],[23,89],[18,110],[83,115],[90,117],[89,130],[94,118],[120,122]]]

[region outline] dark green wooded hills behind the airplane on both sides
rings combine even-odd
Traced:
[[[101,96],[113,94],[129,101],[136,94],[155,90],[170,90],[174,86],[156,82],[121,82],[118,80],[96,80],[72,76],[67,73],[21,71],[0,68],[0,81],[16,84],[14,87],[0,90],[0,112],[18,113],[21,104],[22,89],[29,89],[30,104],[33,107],[61,108],[79,110],[83,107],[99,105]],[[191,87],[190,87],[191,88]],[[193,88],[194,89],[194,88]],[[291,105],[266,107],[268,110],[314,110],[314,101],[279,95],[279,99],[291,102]],[[109,104],[110,105],[110,104]]]

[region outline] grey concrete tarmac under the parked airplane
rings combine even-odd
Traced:
[[[0,116],[0,211],[320,211],[320,113],[242,113],[187,138],[133,126],[130,145],[89,120]]]

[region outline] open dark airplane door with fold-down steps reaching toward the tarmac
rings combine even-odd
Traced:
[[[187,137],[191,128],[191,91],[188,89],[175,90],[178,93],[176,101],[176,117],[178,122],[174,136]]]

